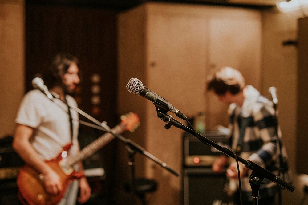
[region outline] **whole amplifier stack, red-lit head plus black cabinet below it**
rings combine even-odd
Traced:
[[[207,131],[204,136],[223,145],[227,138],[219,132]],[[183,134],[182,203],[184,205],[233,204],[224,192],[225,172],[212,171],[212,164],[221,152],[200,142],[197,137]]]

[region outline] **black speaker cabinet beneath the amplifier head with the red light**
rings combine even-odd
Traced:
[[[223,191],[225,173],[216,174],[211,168],[184,168],[182,183],[184,205],[232,204],[232,198]]]

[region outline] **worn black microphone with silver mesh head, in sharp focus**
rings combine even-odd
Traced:
[[[180,112],[178,109],[172,106],[168,101],[166,101],[164,98],[160,97],[147,87],[145,87],[142,82],[138,78],[131,78],[128,81],[128,84],[126,85],[127,90],[130,93],[138,93],[142,97],[147,98],[148,100],[154,102],[154,103],[159,103],[162,108],[164,108],[167,111],[170,111],[174,113],[176,116],[180,117],[183,120],[186,120],[186,116],[183,115],[182,112]]]

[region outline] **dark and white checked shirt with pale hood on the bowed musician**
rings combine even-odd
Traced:
[[[250,160],[261,167],[278,175],[277,145],[279,141],[281,153],[286,156],[286,150],[281,143],[281,131],[277,124],[276,112],[272,101],[260,95],[253,86],[246,86],[243,106],[230,104],[229,146],[245,160]],[[279,148],[279,147],[278,147]],[[284,180],[288,179],[288,167],[284,167]],[[252,200],[248,172],[241,179],[241,189],[244,200]],[[279,185],[264,179],[260,186],[260,198],[273,196]]]

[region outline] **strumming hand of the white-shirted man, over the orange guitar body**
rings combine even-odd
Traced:
[[[60,181],[60,177],[55,171],[50,170],[46,174],[41,176],[44,182],[45,189],[49,194],[58,194],[62,191],[63,187]]]

